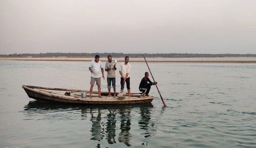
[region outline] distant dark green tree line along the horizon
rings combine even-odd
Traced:
[[[143,57],[142,54],[124,54],[124,53],[39,53],[39,54],[9,54],[9,55],[0,55],[5,57],[24,57],[24,56],[74,56],[74,57],[88,57],[88,56],[115,56],[115,57]],[[144,56],[146,57],[256,57],[256,54],[191,54],[191,53],[170,53],[170,54],[148,54],[145,53]]]

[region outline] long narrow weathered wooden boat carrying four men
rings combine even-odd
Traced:
[[[89,104],[89,105],[125,105],[125,104],[142,104],[150,103],[155,97],[149,96],[140,98],[138,94],[131,94],[130,98],[126,96],[125,99],[118,99],[113,97],[107,97],[108,92],[101,92],[103,98],[99,98],[98,92],[92,92],[92,99],[89,98],[90,92],[77,89],[63,89],[63,88],[48,88],[40,86],[26,86],[22,88],[26,91],[29,98],[36,100],[47,100],[62,103],[72,104]],[[81,98],[82,92],[87,93],[86,98]],[[70,96],[65,95],[66,92],[70,92]],[[111,93],[112,96],[114,93]],[[118,93],[116,93],[117,95]]]

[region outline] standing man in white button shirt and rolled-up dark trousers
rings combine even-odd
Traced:
[[[130,98],[130,70],[131,64],[129,63],[129,57],[126,56],[124,62],[121,63],[119,73],[121,74],[121,93],[123,92],[124,83],[126,82],[128,96]]]

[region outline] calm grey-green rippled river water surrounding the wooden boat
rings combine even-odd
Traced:
[[[139,93],[148,67],[130,64]],[[146,105],[36,101],[22,85],[89,90],[89,62],[0,61],[0,148],[256,148],[256,63],[148,65],[166,107],[155,86]]]

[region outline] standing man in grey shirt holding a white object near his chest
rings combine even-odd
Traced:
[[[111,81],[112,81],[112,86],[114,89],[114,96],[113,98],[115,98],[115,62],[112,61],[112,57],[108,56],[108,62],[106,62],[105,64],[105,71],[107,71],[107,82],[108,82],[108,96],[107,97],[111,97],[111,93],[110,93],[110,88],[111,88]]]

